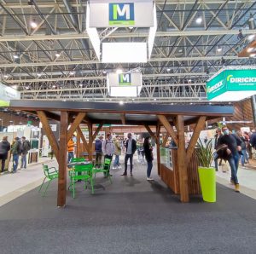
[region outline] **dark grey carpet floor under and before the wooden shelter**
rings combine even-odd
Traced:
[[[78,184],[56,208],[56,182],[46,197],[32,190],[0,207],[0,253],[256,253],[256,202],[218,185],[218,201],[181,204],[158,176],[113,171],[98,176],[95,195]]]

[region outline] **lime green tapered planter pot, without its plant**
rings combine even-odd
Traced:
[[[216,202],[216,175],[214,168],[199,167],[201,193],[206,202]]]

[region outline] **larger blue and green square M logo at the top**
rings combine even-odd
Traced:
[[[109,25],[129,25],[135,24],[134,3],[109,3]]]

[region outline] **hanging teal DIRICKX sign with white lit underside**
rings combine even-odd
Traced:
[[[224,68],[207,81],[210,101],[240,101],[256,94],[256,68]]]

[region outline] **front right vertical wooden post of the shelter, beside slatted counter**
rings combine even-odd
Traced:
[[[177,170],[179,173],[180,200],[189,202],[189,182],[187,171],[187,157],[185,150],[184,119],[177,116]]]

